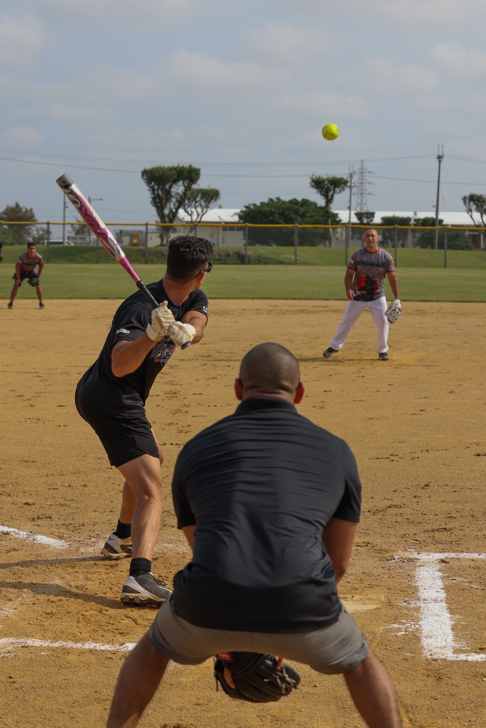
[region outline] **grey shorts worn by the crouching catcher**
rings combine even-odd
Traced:
[[[148,636],[159,652],[182,665],[199,665],[219,652],[262,652],[334,675],[354,670],[368,654],[364,636],[343,604],[339,619],[330,627],[313,632],[267,634],[196,627],[174,614],[168,599],[160,607]]]

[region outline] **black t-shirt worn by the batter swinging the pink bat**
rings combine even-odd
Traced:
[[[202,290],[190,293],[180,306],[173,304],[165,293],[162,281],[150,283],[147,288],[152,296],[162,303],[168,302],[176,321],[180,321],[189,311],[199,311],[208,315],[208,298]],[[145,333],[151,320],[152,304],[141,291],[133,293],[114,314],[101,354],[79,380],[77,391],[80,400],[90,407],[125,416],[138,416],[144,413],[145,400],[157,374],[176,350],[176,344],[169,336],[164,336],[154,344],[136,371],[125,376],[114,376],[111,371],[111,352],[117,341],[135,341]]]

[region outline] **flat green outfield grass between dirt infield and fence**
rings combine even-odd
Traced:
[[[426,251],[430,252],[430,251]],[[466,253],[471,255],[471,253]],[[486,253],[482,253],[485,256]],[[0,264],[0,298],[9,298],[12,288],[12,265]],[[144,282],[160,278],[165,266],[137,264]],[[342,300],[345,267],[282,265],[215,265],[206,277],[204,290],[208,298],[291,298]],[[486,301],[484,269],[439,269],[399,267],[400,296],[404,301]],[[114,264],[73,265],[60,263],[45,266],[42,273],[44,298],[125,298],[133,293],[135,283]],[[391,290],[385,285],[388,298]],[[17,298],[36,298],[34,288],[25,281]]]

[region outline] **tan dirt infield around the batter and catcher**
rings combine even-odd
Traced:
[[[122,606],[128,563],[99,554],[117,522],[122,478],[73,401],[117,301],[47,301],[44,311],[31,300],[15,301],[12,311],[6,304],[0,527],[17,531],[0,532],[0,724],[101,727],[130,649],[119,646],[136,642],[154,617],[153,609]],[[391,672],[404,726],[479,728],[486,304],[405,304],[391,327],[389,362],[377,359],[375,325],[364,314],[342,352],[325,361],[343,309],[325,301],[212,304],[205,338],[176,352],[147,403],[165,453],[165,491],[181,446],[235,407],[232,381],[248,348],[267,340],[289,347],[307,387],[299,412],[356,454],[363,516],[340,595]],[[190,553],[167,502],[154,572],[170,584]],[[211,662],[171,665],[140,725],[364,725],[340,676],[297,667],[305,697],[251,706],[216,695]]]

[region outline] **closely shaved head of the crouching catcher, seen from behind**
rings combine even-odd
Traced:
[[[294,397],[300,383],[297,359],[289,349],[267,342],[251,349],[240,366],[243,398]]]

